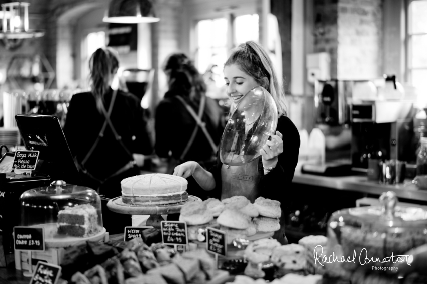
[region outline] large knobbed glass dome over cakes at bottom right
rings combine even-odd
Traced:
[[[326,264],[330,272],[391,267],[411,260],[407,252],[427,243],[427,211],[419,207],[398,206],[394,192],[384,192],[379,206],[364,206],[336,211],[328,221],[328,245],[323,255],[335,253],[350,262]],[[365,261],[365,257],[368,260]],[[371,259],[372,258],[372,259]],[[378,258],[378,260],[377,260]],[[369,260],[371,259],[371,260]],[[337,267],[339,266],[339,267]],[[385,269],[383,269],[385,270]]]

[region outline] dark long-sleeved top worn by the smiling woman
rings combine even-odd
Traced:
[[[286,116],[279,118],[276,131],[283,134],[283,153],[277,157],[277,165],[270,173],[264,175],[264,171],[262,171],[258,191],[261,196],[278,200],[284,204],[282,201],[285,196],[285,190],[289,188],[292,182],[295,167],[298,163],[300,139],[298,129]],[[209,170],[215,178],[216,187],[211,192],[208,192],[209,196],[217,198],[221,196],[222,166],[223,163],[221,163],[220,156],[217,154],[217,164]]]

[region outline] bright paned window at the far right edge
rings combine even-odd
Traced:
[[[427,0],[413,0],[408,9],[408,81],[427,90]]]

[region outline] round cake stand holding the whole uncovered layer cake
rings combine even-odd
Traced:
[[[107,203],[108,209],[113,212],[130,215],[150,215],[147,219],[146,226],[152,226],[160,229],[160,222],[164,221],[162,214],[175,214],[181,211],[182,206],[189,202],[201,201],[200,198],[188,195],[185,202],[164,204],[164,205],[133,205],[123,203],[122,197],[116,197]]]

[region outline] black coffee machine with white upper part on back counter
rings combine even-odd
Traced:
[[[382,160],[415,160],[412,147],[414,115],[409,100],[353,101],[351,107],[352,169],[366,172],[372,153]]]

